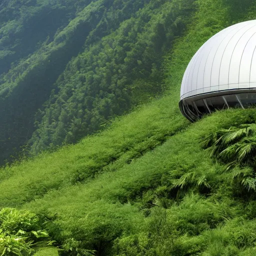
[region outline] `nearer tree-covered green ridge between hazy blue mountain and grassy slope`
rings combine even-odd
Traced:
[[[160,92],[161,56],[185,29],[192,3],[151,0],[138,8],[141,4],[133,2],[133,9],[138,10],[118,28],[118,18],[112,15],[134,10],[116,13],[115,3],[101,28],[87,37],[83,52],[58,77],[57,89],[38,113],[38,128],[30,140],[32,150],[38,152],[50,143],[75,142],[98,130],[110,116]],[[109,35],[102,36],[107,31]]]

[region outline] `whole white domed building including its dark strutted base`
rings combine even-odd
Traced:
[[[256,20],[229,26],[208,39],[185,70],[179,108],[194,121],[215,109],[256,104]]]

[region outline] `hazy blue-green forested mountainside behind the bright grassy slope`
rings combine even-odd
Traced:
[[[76,142],[164,90],[162,56],[193,10],[193,0],[3,2],[1,159]]]

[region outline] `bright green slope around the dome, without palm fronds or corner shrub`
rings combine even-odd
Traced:
[[[218,112],[189,125],[177,107],[188,60],[230,24],[221,1],[198,4],[194,23],[177,40],[171,61],[166,57],[170,91],[77,145],[3,169],[1,206],[57,213],[56,239],[74,237],[99,254],[254,255],[254,248],[248,248],[255,241],[253,207],[232,196],[231,174],[212,163],[198,139],[218,127],[252,122],[255,111]],[[181,187],[191,172],[210,188],[189,180]],[[193,193],[186,194],[189,187]]]

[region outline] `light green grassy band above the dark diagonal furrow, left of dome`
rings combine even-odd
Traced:
[[[110,129],[97,136],[86,137],[77,145],[3,169],[0,204],[16,206],[43,195],[48,189],[83,181],[102,168],[113,169],[109,164],[112,161],[118,168],[140,157],[188,123],[180,115],[179,120],[172,118],[170,99],[164,97],[144,106],[115,121]],[[176,106],[173,110],[179,111]],[[11,177],[4,179],[10,174]]]

